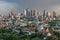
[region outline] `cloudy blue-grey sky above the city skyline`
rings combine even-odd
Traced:
[[[60,15],[60,0],[0,0],[0,14],[7,15],[12,9],[23,12],[23,9],[27,8],[36,9],[41,14],[45,9]]]

